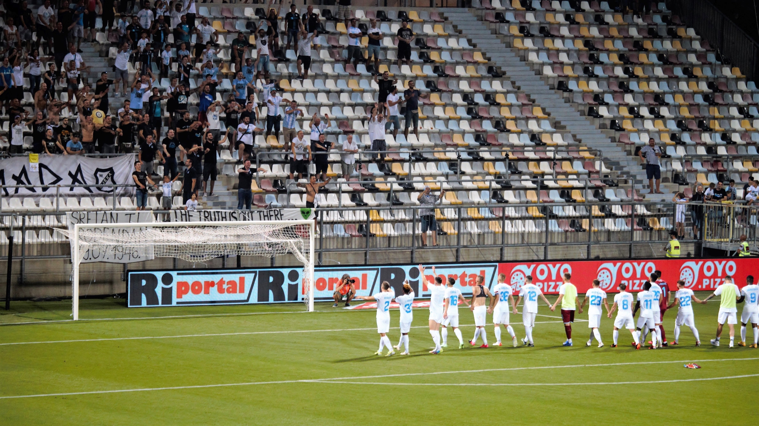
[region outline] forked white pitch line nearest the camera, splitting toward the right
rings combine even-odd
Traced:
[[[143,387],[137,389],[118,389],[118,390],[90,390],[85,392],[65,392],[65,393],[38,393],[36,395],[11,395],[0,396],[0,399],[19,399],[19,398],[39,398],[43,396],[71,396],[71,395],[93,395],[102,393],[126,393],[126,392],[146,392],[152,390],[181,390],[181,389],[201,389],[209,387],[232,387],[232,386],[253,386],[261,384],[291,384],[291,383],[320,383],[320,384],[370,384],[368,382],[349,382],[345,380],[358,380],[362,378],[376,378],[376,377],[403,377],[414,375],[430,375],[430,374],[457,374],[457,373],[473,373],[473,372],[487,372],[487,371],[512,371],[512,370],[529,370],[538,368],[578,368],[578,367],[606,367],[615,365],[639,365],[639,364],[672,364],[679,362],[710,362],[710,361],[749,361],[759,358],[732,358],[732,359],[701,359],[701,360],[685,360],[685,361],[654,361],[654,362],[619,362],[614,364],[587,364],[587,365],[553,365],[544,367],[521,367],[521,368],[487,368],[483,370],[466,370],[466,371],[436,371],[433,373],[408,373],[408,374],[386,374],[383,376],[359,376],[359,377],[335,377],[335,378],[323,378],[323,379],[301,379],[291,381],[257,381],[257,382],[244,382],[244,383],[226,383],[226,384],[197,384],[190,386],[172,386],[172,387]],[[603,382],[603,383],[588,383],[587,385],[594,384],[650,384],[650,383],[674,383],[679,381],[706,381],[706,380],[725,380],[729,378],[742,378],[742,377],[756,377],[759,374],[745,374],[740,376],[726,376],[726,377],[711,377],[711,378],[699,378],[699,379],[681,379],[672,381],[640,381],[640,382]],[[389,383],[371,383],[371,384],[389,384]],[[413,384],[397,384],[397,385],[413,385]],[[439,386],[437,384],[427,384],[429,386]],[[493,386],[490,384],[449,384],[452,386]],[[504,384],[504,386],[568,386],[572,384]],[[582,383],[574,385],[583,385]]]

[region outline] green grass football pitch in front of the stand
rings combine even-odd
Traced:
[[[13,302],[0,311],[0,424],[749,424],[759,350],[728,349],[727,329],[710,346],[718,307],[694,305],[701,347],[683,327],[679,346],[635,350],[620,330],[612,348],[605,316],[605,347],[585,346],[585,321],[575,346],[562,347],[560,318],[541,305],[533,348],[512,347],[504,332],[506,346],[458,349],[450,333],[437,356],[427,353],[428,312],[417,309],[411,355],[385,357],[373,355],[373,310],[126,309],[101,299],[83,300],[84,321],[71,322],[70,301]],[[675,313],[664,320],[670,342]],[[391,318],[397,344],[397,310]],[[11,324],[33,321],[43,322]],[[468,310],[461,325],[471,339]],[[495,341],[492,325],[487,337]]]

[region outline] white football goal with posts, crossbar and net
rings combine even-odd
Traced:
[[[301,294],[313,312],[313,220],[145,222],[74,224],[65,233],[71,241],[71,310],[79,319],[79,271],[89,249],[128,249],[146,258],[181,258],[206,262],[224,255],[275,257],[292,254],[303,263]]]

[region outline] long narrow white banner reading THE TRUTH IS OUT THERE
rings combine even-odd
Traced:
[[[172,222],[304,221],[313,219],[313,208],[269,208],[268,210],[172,210]]]

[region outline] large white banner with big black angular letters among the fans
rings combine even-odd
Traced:
[[[89,158],[79,155],[39,155],[36,171],[32,171],[29,158],[0,159],[0,185],[2,196],[55,198],[55,188],[7,188],[6,185],[90,185],[61,188],[61,197],[111,196],[110,185],[134,183],[135,155],[113,158]],[[116,196],[132,196],[134,187],[120,187]]]

